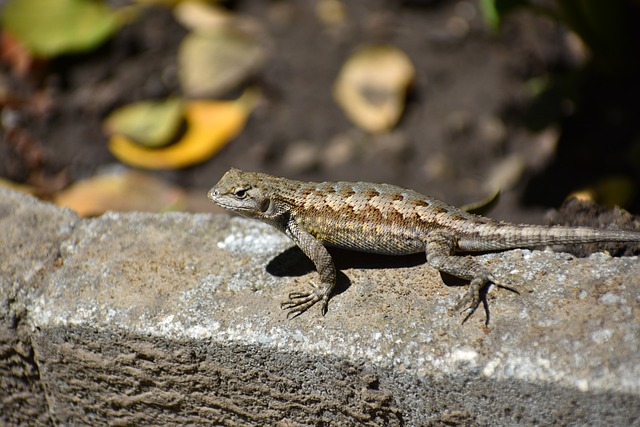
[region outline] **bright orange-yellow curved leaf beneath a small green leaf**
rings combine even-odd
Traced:
[[[122,135],[113,135],[109,150],[120,161],[147,169],[175,169],[203,162],[240,133],[257,102],[255,90],[235,101],[189,101],[187,130],[173,145],[151,149]]]

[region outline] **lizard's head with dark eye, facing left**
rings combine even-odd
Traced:
[[[209,190],[209,199],[218,206],[249,218],[267,219],[273,203],[264,186],[268,175],[231,168]]]

